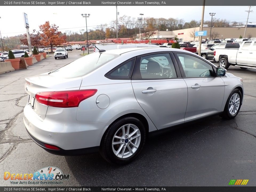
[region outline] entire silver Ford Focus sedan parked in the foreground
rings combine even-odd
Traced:
[[[188,51],[126,48],[93,53],[26,78],[24,124],[53,154],[100,151],[125,164],[149,132],[209,115],[234,118],[242,79]]]

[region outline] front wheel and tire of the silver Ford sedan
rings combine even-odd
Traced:
[[[242,94],[239,89],[234,89],[226,102],[225,108],[221,117],[224,119],[233,119],[239,113],[241,108]]]

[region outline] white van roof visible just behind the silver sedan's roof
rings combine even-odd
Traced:
[[[130,47],[159,47],[158,45],[152,44],[143,44],[143,43],[127,43],[127,44],[117,44],[117,43],[107,43],[107,44],[96,44],[94,47],[94,53],[99,52],[99,50],[111,50],[111,49],[122,49],[122,48],[130,48]]]

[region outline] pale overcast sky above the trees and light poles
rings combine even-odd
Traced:
[[[223,0],[224,1],[224,0]],[[201,20],[202,6],[118,6],[119,16],[127,15],[134,18],[178,18],[189,22],[192,19]],[[209,13],[216,13],[215,18],[227,19],[246,23],[249,6],[206,6],[204,20],[210,20]],[[256,24],[256,7],[250,13],[249,24]],[[0,30],[2,37],[10,37],[26,33],[23,21],[23,12],[28,15],[29,30],[39,30],[39,25],[50,21],[50,24],[59,26],[59,31],[67,30],[79,32],[86,30],[85,18],[81,14],[91,14],[87,18],[87,29],[94,29],[97,25],[110,24],[116,19],[115,6],[5,6],[0,11]]]

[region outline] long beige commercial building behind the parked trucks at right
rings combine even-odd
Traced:
[[[203,27],[203,31],[207,31],[207,36],[202,36],[202,39],[226,39],[226,38],[239,38],[245,32],[245,27]],[[150,37],[150,39],[169,39],[172,40],[177,35],[179,41],[194,41],[194,37],[191,37],[191,34],[194,34],[195,31],[200,31],[200,27],[180,29],[174,31],[155,31],[155,35]],[[256,27],[247,27],[246,28],[246,37],[251,35],[251,37],[256,37]],[[141,37],[141,34],[140,34]],[[138,34],[137,34],[138,38]],[[244,38],[244,37],[243,37]],[[195,41],[198,41],[198,37],[195,37]]]

